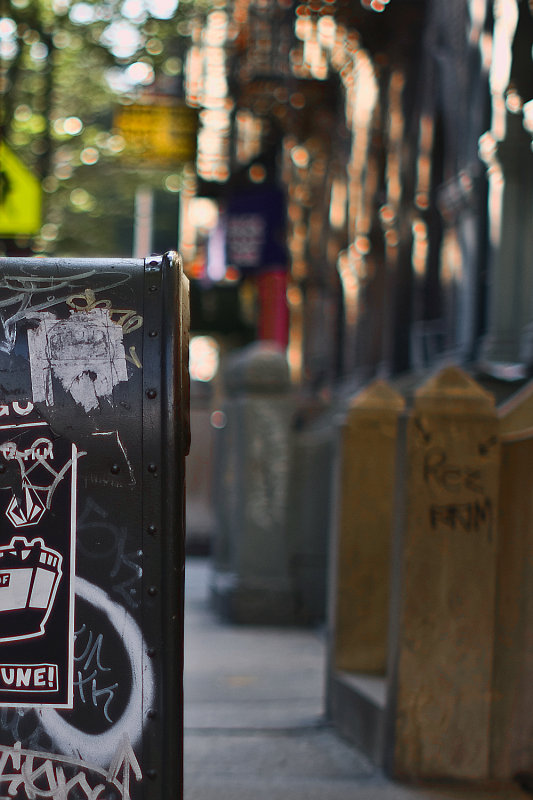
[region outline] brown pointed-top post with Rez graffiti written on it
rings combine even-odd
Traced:
[[[499,470],[492,396],[461,370],[442,370],[417,391],[399,448],[385,766],[399,778],[485,779]]]

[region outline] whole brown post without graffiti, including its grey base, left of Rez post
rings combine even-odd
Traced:
[[[326,711],[375,762],[383,759],[398,417],[403,398],[375,381],[339,431],[331,537]]]

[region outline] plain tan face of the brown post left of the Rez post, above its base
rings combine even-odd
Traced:
[[[333,666],[385,673],[398,415],[403,398],[376,381],[342,431]]]

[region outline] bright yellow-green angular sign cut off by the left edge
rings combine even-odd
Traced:
[[[0,141],[0,237],[33,236],[41,228],[41,184]]]

